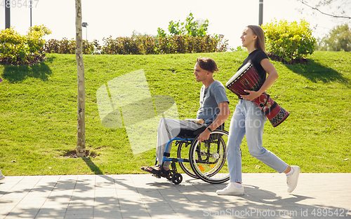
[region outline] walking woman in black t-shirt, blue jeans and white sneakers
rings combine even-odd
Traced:
[[[293,192],[298,183],[300,167],[289,166],[277,155],[263,147],[263,127],[267,118],[265,113],[252,102],[253,99],[260,97],[260,94],[265,92],[277,80],[277,70],[265,53],[265,36],[259,26],[247,26],[240,38],[242,45],[247,48],[249,56],[239,69],[247,62],[251,62],[263,81],[263,85],[257,92],[244,90],[249,94],[239,97],[239,103],[230,122],[227,142],[227,164],[230,173],[230,183],[223,190],[217,190],[217,194],[244,195],[244,187],[241,185],[240,145],[245,134],[250,154],[279,173],[285,173],[288,186],[287,191]]]

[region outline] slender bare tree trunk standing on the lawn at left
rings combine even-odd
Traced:
[[[85,81],[84,81],[84,61],[82,52],[81,33],[81,0],[76,0],[76,58],[78,73],[78,125],[77,125],[77,157],[86,156],[86,128],[85,128]]]

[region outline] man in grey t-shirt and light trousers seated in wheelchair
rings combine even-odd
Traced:
[[[154,167],[141,167],[143,171],[147,171],[151,174],[159,174],[159,176],[168,178],[170,175],[169,165],[171,162],[164,162],[162,169],[161,164],[166,150],[166,144],[170,139],[178,136],[181,130],[195,131],[201,127],[206,127],[204,131],[199,134],[197,139],[201,143],[201,141],[205,141],[209,138],[213,130],[220,127],[220,125],[227,120],[230,115],[229,101],[223,84],[213,79],[213,73],[215,71],[219,70],[213,59],[208,57],[197,59],[197,63],[194,66],[194,76],[197,82],[203,84],[200,91],[200,108],[197,111],[197,119],[204,120],[204,123],[200,125],[184,120],[162,118],[159,121],[159,127],[157,129],[156,156],[159,165]],[[167,153],[170,151],[171,146],[168,146]],[[159,171],[161,171],[161,173],[159,173]]]

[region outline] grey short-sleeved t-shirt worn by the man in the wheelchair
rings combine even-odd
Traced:
[[[199,111],[197,111],[197,118],[203,119],[206,125],[211,125],[220,112],[218,104],[225,101],[229,104],[225,87],[220,81],[215,80],[206,89],[205,85],[202,85],[200,92],[200,108]]]

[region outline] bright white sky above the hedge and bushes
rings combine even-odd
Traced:
[[[13,0],[11,26],[20,34],[26,34],[30,25],[29,8],[20,6],[29,0]],[[317,0],[310,0],[317,1]],[[5,28],[4,0],[0,0],[0,29]],[[157,28],[167,30],[168,23],[185,21],[192,13],[196,20],[208,20],[209,34],[223,34],[231,48],[241,45],[241,32],[249,24],[258,24],[259,0],[82,0],[83,38],[88,41],[112,36],[131,36],[133,31],[140,34],[157,35]],[[321,8],[326,13],[329,8]],[[350,10],[348,10],[350,9]],[[303,10],[304,13],[300,13]],[[347,8],[351,12],[351,8]],[[349,13],[350,15],[350,13]],[[263,24],[272,20],[288,22],[305,19],[310,22],[313,35],[322,38],[345,19],[335,19],[322,13],[314,13],[297,0],[264,0]],[[75,1],[74,0],[34,0],[32,25],[44,24],[53,33],[44,38],[75,38]]]

